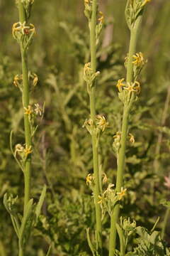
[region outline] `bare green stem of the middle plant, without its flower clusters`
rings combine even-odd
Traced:
[[[96,73],[96,15],[97,15],[97,1],[93,0],[92,4],[92,16],[90,24],[90,44],[91,44],[91,69],[93,73]],[[96,107],[95,107],[95,84],[91,88],[90,92],[90,112],[91,119],[95,119],[96,116]],[[96,235],[97,235],[97,244],[98,252],[102,253],[102,238],[101,238],[101,206],[98,204],[98,196],[100,195],[100,182],[98,174],[98,146],[97,146],[97,137],[96,134],[91,135],[92,148],[93,148],[93,160],[94,160],[94,178],[95,178],[95,188],[94,188],[94,201],[95,201],[95,210],[96,210]]]

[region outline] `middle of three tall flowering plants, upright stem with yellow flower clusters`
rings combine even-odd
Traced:
[[[102,255],[102,223],[101,223],[101,206],[98,203],[101,194],[101,174],[98,169],[98,143],[102,132],[106,129],[107,122],[104,116],[96,115],[96,77],[100,74],[96,70],[96,48],[98,45],[99,36],[103,26],[103,14],[98,11],[97,0],[84,0],[84,14],[89,21],[90,32],[90,53],[91,61],[84,66],[84,80],[87,85],[87,92],[89,94],[90,101],[90,119],[86,119],[84,127],[91,134],[91,142],[93,149],[93,163],[94,174],[87,176],[87,183],[91,184],[92,180],[94,186],[91,186],[94,193],[94,204],[96,209],[96,249],[94,249],[89,230],[87,230],[87,237],[89,247],[93,255]]]

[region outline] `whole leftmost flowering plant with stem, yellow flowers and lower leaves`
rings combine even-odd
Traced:
[[[4,206],[11,215],[13,228],[18,236],[18,255],[23,256],[30,232],[40,215],[46,186],[42,189],[40,199],[35,205],[33,198],[30,196],[31,155],[33,154],[33,135],[38,128],[38,125],[35,125],[35,119],[38,116],[42,118],[42,108],[38,103],[35,103],[34,106],[30,105],[30,91],[38,82],[37,75],[28,72],[28,49],[33,41],[33,36],[35,36],[35,27],[32,23],[28,22],[33,0],[16,0],[16,6],[18,7],[19,21],[13,24],[12,33],[21,50],[22,74],[15,76],[13,84],[21,90],[22,94],[25,143],[16,144],[15,150],[13,150],[12,132],[10,143],[13,156],[23,171],[24,176],[23,215],[19,214],[17,210],[18,196],[15,198],[13,195],[6,193],[4,195]]]

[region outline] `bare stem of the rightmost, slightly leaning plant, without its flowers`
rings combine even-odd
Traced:
[[[142,21],[142,15],[138,16],[135,21],[135,25],[131,28],[130,31],[130,47],[128,54],[128,66],[127,66],[127,82],[132,82],[133,79],[133,64],[132,56],[136,52],[137,45],[137,35],[139,33],[140,24]],[[126,149],[126,140],[128,134],[128,119],[130,114],[130,107],[124,105],[123,109],[123,123],[121,131],[121,140],[120,140],[120,150],[118,153],[118,172],[116,180],[116,191],[120,192],[121,187],[123,186],[123,174],[125,169],[125,149]],[[111,234],[109,239],[109,256],[113,256],[115,252],[115,243],[116,243],[116,223],[118,222],[120,212],[120,203],[117,203],[113,213],[111,215]]]

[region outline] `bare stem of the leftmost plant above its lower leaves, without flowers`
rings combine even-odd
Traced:
[[[21,1],[18,3],[19,10],[19,20],[21,23],[26,21],[26,11],[23,8]],[[23,49],[21,45],[21,60],[22,60],[22,73],[23,73],[23,107],[28,108],[29,105],[29,82],[28,82],[28,54],[27,50]],[[25,130],[25,139],[26,146],[31,146],[31,134],[30,134],[30,122],[28,119],[28,114],[24,114],[24,130]],[[28,155],[26,159],[25,168],[24,168],[24,210],[23,213],[26,213],[26,205],[30,199],[30,165],[31,158]]]

